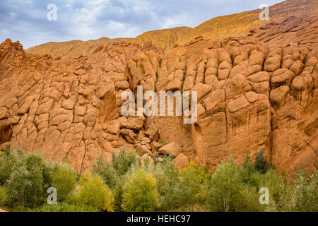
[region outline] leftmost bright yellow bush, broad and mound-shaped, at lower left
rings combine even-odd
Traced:
[[[102,182],[102,179],[98,175],[91,174],[81,177],[79,186],[71,199],[76,205],[83,203],[100,211],[112,211],[113,200],[112,191]]]

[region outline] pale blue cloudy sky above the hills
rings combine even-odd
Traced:
[[[45,42],[136,37],[148,30],[196,25],[282,0],[1,0],[0,42],[25,49]],[[54,7],[57,6],[57,20]],[[49,8],[49,9],[48,9]],[[49,19],[47,18],[49,13]]]

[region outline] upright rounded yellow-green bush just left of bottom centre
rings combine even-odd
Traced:
[[[153,175],[143,169],[132,169],[126,177],[122,208],[128,212],[151,212],[158,208],[158,192]]]

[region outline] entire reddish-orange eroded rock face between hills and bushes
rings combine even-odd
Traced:
[[[0,145],[61,161],[67,156],[78,172],[101,150],[110,160],[123,145],[145,159],[172,152],[178,167],[194,160],[215,169],[230,155],[242,162],[262,148],[279,170],[295,172],[300,164],[317,170],[318,40],[278,38],[317,33],[317,19],[294,20],[247,37],[200,37],[165,54],[119,42],[89,57],[52,59],[25,54],[6,40],[0,45]],[[266,35],[273,28],[278,35]],[[196,91],[196,123],[175,114],[125,117],[122,93],[137,95],[138,85],[143,94]]]

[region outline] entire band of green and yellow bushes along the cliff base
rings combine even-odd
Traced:
[[[103,153],[91,172],[44,161],[22,150],[0,152],[0,207],[28,212],[86,211],[318,211],[318,173],[300,167],[293,182],[279,175],[260,151],[242,165],[230,157],[211,173],[193,161],[176,169],[172,156],[144,160],[134,151]],[[57,203],[47,203],[47,189]],[[269,203],[260,202],[268,189]]]

